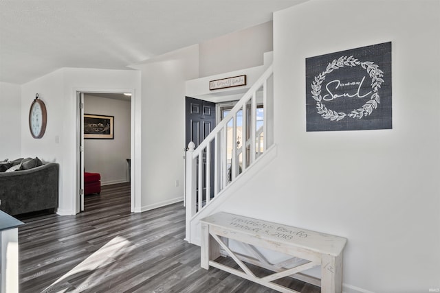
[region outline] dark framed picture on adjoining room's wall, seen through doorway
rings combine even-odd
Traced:
[[[114,116],[84,114],[84,139],[114,139]]]

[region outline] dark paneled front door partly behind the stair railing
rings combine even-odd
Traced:
[[[215,104],[212,102],[186,97],[186,147],[192,141],[197,148],[215,127]],[[214,144],[211,146],[210,196],[214,196]],[[206,151],[202,155],[203,174],[206,174]],[[203,176],[203,200],[206,200],[206,176]],[[198,183],[197,183],[197,186]],[[198,190],[197,190],[198,192]]]

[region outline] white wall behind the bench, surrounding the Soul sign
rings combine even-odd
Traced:
[[[439,1],[274,14],[277,158],[217,210],[347,237],[344,292],[440,288]],[[305,131],[305,58],[393,42],[393,129]]]

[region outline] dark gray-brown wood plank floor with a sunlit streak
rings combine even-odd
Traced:
[[[274,292],[216,268],[201,269],[199,246],[184,241],[183,204],[130,213],[129,184],[86,196],[85,212],[78,215],[21,220],[21,293]],[[230,258],[223,261],[232,266]],[[282,282],[299,292],[320,292],[293,279]]]

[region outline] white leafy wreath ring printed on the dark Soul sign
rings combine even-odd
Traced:
[[[371,78],[371,89],[373,89],[373,95],[371,95],[370,100],[367,101],[362,108],[353,109],[349,114],[327,108],[327,106],[322,103],[321,96],[321,84],[325,80],[325,75],[342,67],[355,67],[359,65],[366,70]],[[377,108],[377,104],[380,104],[379,89],[382,82],[384,82],[382,79],[383,76],[384,71],[380,70],[379,66],[374,64],[374,62],[360,62],[358,59],[353,58],[353,56],[341,56],[338,60],[335,59],[331,61],[329,65],[327,65],[327,69],[315,76],[314,82],[311,83],[311,95],[316,101],[318,114],[320,114],[322,118],[330,119],[331,121],[340,121],[347,116],[362,119],[364,116],[371,115],[371,113],[373,113],[373,109]]]

